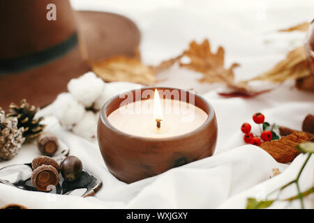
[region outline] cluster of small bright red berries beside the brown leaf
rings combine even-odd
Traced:
[[[266,123],[264,122],[265,120],[265,116],[260,113],[260,112],[257,112],[253,115],[253,121],[257,124],[262,124],[262,129],[260,128],[260,137],[258,136],[255,136],[252,132],[251,132],[251,125],[249,123],[243,123],[243,125],[241,126],[241,131],[245,133],[244,135],[244,141],[247,143],[247,144],[253,144],[255,146],[260,146],[260,144],[262,143],[261,142],[261,139],[263,141],[271,141],[271,139],[277,139],[277,135],[275,132],[273,132],[273,128],[274,127],[271,127],[269,129],[269,123]]]

